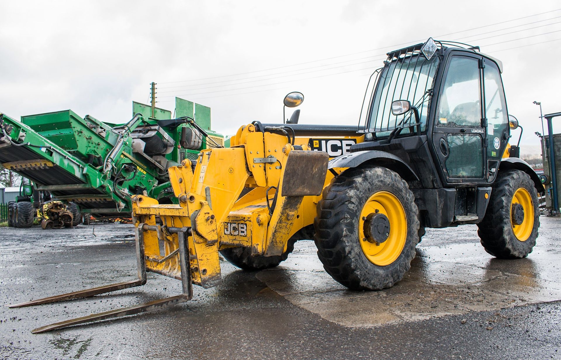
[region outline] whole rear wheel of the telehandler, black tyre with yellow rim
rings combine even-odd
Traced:
[[[519,170],[499,173],[477,234],[485,251],[501,259],[528,256],[540,227],[537,192],[530,175]]]

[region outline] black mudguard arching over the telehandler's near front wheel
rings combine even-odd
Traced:
[[[368,162],[371,165],[381,165],[393,170],[406,181],[419,180],[415,171],[401,158],[385,151],[365,150],[344,154],[329,161],[328,170],[334,167],[357,167]]]

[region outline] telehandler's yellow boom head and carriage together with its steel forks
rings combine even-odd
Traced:
[[[298,211],[304,197],[321,194],[328,154],[303,151],[300,145],[287,143],[285,136],[257,131],[255,125],[243,127],[238,138],[237,146],[201,152],[194,171],[190,161],[168,169],[178,204],[160,204],[146,195],[131,198],[137,280],[11,307],[85,298],[141,286],[146,283],[148,271],[182,281],[180,295],[57,322],[32,332],[51,331],[186,302],[192,298],[193,284],[208,289],[222,282],[218,253],[223,249],[245,247],[250,249],[251,256],[281,256],[291,236],[308,225],[303,224]],[[262,157],[265,144],[269,144],[267,153],[276,155]],[[264,164],[268,165],[266,170]],[[241,195],[244,188],[251,186],[249,193]],[[156,218],[162,225],[157,224]]]

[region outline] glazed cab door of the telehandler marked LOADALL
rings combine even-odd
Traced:
[[[433,146],[447,184],[486,183],[481,68],[482,58],[476,54],[452,54],[440,82]]]

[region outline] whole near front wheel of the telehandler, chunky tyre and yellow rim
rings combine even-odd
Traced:
[[[315,244],[325,271],[352,290],[389,288],[410,269],[419,209],[407,183],[384,167],[355,168],[324,189]]]

